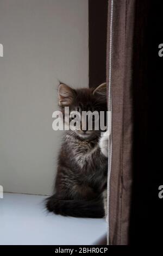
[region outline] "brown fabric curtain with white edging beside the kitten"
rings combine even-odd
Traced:
[[[108,243],[127,245],[129,233],[135,0],[109,0],[106,82],[111,110],[111,166],[108,172]],[[110,147],[110,145],[109,145]]]

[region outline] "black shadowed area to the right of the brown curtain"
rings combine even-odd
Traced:
[[[161,245],[163,1],[136,1],[133,56],[134,147],[130,243]]]

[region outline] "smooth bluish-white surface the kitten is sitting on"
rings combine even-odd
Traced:
[[[4,194],[0,199],[0,245],[93,245],[106,233],[104,218],[47,214],[44,198]]]

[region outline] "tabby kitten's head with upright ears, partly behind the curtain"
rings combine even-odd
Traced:
[[[106,125],[106,83],[101,84],[97,88],[81,88],[73,89],[66,84],[60,83],[58,87],[58,100],[62,113],[65,113],[65,107],[69,107],[68,122],[74,119],[74,113],[78,112],[80,122],[78,127],[74,129],[74,133],[82,139],[92,139],[99,137],[101,134],[100,121],[101,114],[104,113],[104,121]],[[83,113],[96,113],[91,118],[86,119]],[[75,115],[76,117],[76,115]],[[92,121],[90,129],[89,121]],[[99,129],[97,130],[97,124]],[[95,128],[96,126],[96,128]]]

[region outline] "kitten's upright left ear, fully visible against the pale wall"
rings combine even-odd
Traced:
[[[76,92],[70,86],[60,83],[58,87],[58,102],[60,106],[70,106]]]

